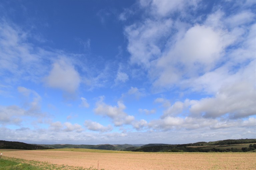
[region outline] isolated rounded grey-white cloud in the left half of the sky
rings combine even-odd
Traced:
[[[49,87],[60,88],[66,92],[74,93],[80,85],[79,73],[75,70],[70,61],[60,59],[53,64],[45,83]]]

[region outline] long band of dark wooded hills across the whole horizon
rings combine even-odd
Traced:
[[[27,144],[0,140],[0,149],[101,149],[123,150],[133,152],[256,152],[256,139],[227,139],[213,142],[196,142],[187,144],[101,144],[101,145],[73,145],[73,144]]]

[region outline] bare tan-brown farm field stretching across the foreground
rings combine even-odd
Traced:
[[[256,167],[256,153],[97,153],[56,150],[1,150],[3,156],[105,170],[207,170]]]

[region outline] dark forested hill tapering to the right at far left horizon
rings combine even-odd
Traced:
[[[23,142],[12,142],[0,140],[0,149],[26,149],[26,150],[36,150],[36,149],[52,149],[50,147],[44,147],[39,145],[32,145]]]

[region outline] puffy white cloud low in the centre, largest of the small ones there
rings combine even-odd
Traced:
[[[127,115],[124,112],[126,106],[123,102],[118,101],[117,106],[107,105],[103,102],[104,96],[100,97],[100,100],[96,103],[96,108],[94,109],[95,114],[107,116],[112,119],[115,126],[122,126],[123,124],[131,124],[134,120],[134,116]]]

